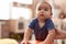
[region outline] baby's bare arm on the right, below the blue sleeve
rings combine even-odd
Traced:
[[[48,35],[46,36],[45,41],[40,44],[52,44],[55,38],[55,30],[50,30]]]

